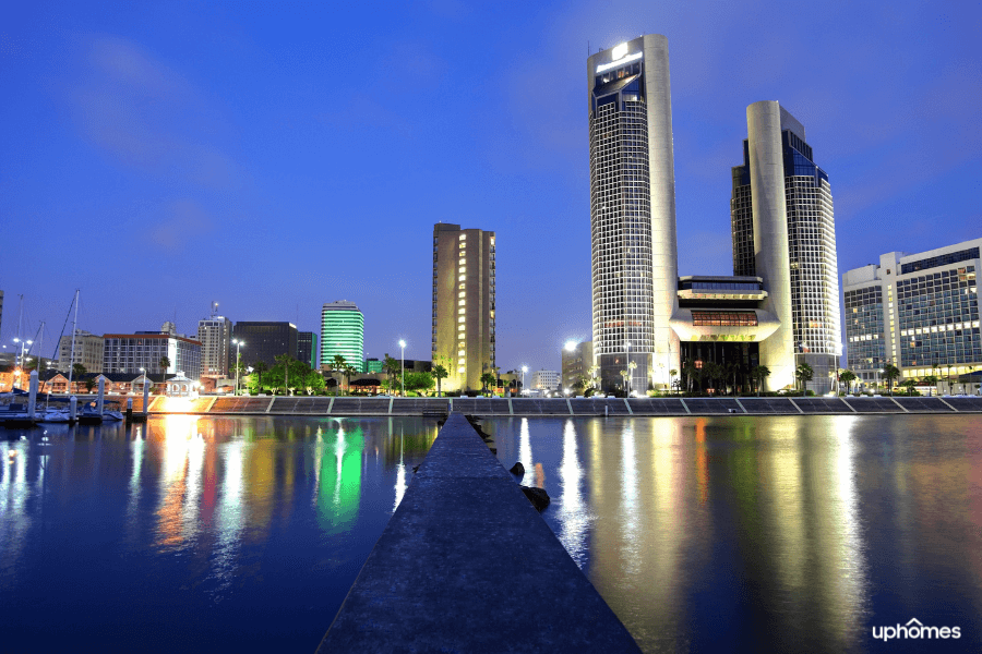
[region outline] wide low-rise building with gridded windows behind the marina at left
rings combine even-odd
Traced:
[[[103,337],[103,372],[139,374],[188,373],[201,370],[201,342],[160,331],[107,334]],[[170,362],[165,368],[160,360]],[[192,373],[194,374],[194,373]]]

